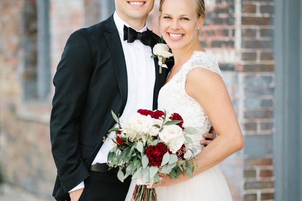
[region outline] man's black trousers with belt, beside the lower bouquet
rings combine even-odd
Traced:
[[[124,201],[128,193],[131,176],[120,182],[115,173],[90,171],[79,201]]]

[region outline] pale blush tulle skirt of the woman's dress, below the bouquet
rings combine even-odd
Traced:
[[[131,181],[125,201],[131,201],[136,180]],[[158,201],[232,201],[226,179],[214,166],[191,179],[156,188]]]

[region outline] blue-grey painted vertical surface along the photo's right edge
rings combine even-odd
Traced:
[[[275,200],[301,201],[301,2],[275,3]]]

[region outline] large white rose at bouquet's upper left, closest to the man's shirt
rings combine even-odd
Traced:
[[[139,133],[148,133],[152,128],[153,119],[150,115],[144,116],[139,113],[134,113],[128,118],[131,129]]]

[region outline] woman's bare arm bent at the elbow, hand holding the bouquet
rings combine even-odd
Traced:
[[[196,155],[200,168],[195,169],[194,176],[241,150],[244,143],[226,86],[218,74],[204,68],[192,69],[187,75],[186,92],[203,107],[218,133],[218,137]],[[187,179],[187,174],[181,174],[180,179],[170,179],[168,175],[163,175],[160,186]]]

